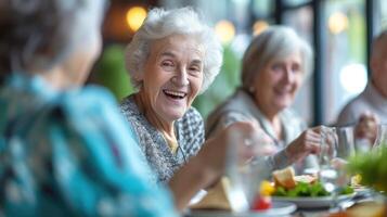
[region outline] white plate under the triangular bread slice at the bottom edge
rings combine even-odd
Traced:
[[[289,202],[273,202],[268,210],[249,213],[230,213],[227,210],[191,210],[185,217],[274,217],[289,216],[296,210],[296,204]]]

